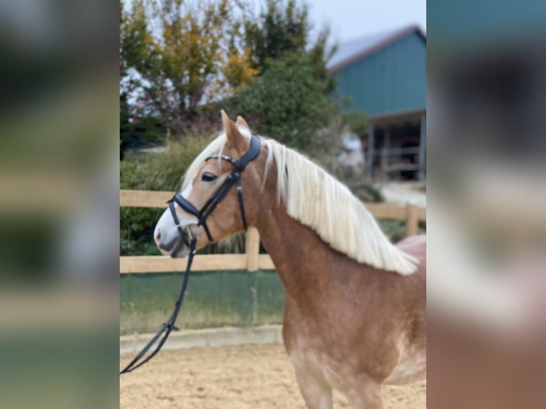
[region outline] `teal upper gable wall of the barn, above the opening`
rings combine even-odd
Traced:
[[[418,33],[341,68],[338,89],[369,115],[426,107],[426,43]]]

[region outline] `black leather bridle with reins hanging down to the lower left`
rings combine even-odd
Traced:
[[[236,160],[235,158],[227,155],[212,155],[207,157],[207,160],[210,159],[222,159],[227,160],[228,162],[231,162],[234,165],[233,170],[230,172],[230,175],[227,175],[225,180],[222,182],[222,185],[220,185],[217,190],[215,190],[214,193],[212,193],[212,196],[207,200],[205,205],[200,210],[197,210],[197,208],[192,205],[190,201],[188,201],[185,197],[183,197],[180,193],[176,193],[171,200],[169,200],[167,203],[169,205],[170,213],[172,214],[172,219],[174,219],[176,227],[178,229],[178,233],[180,234],[180,239],[178,240],[177,244],[175,245],[175,248],[172,249],[171,254],[176,254],[178,250],[180,249],[180,246],[182,246],[184,242],[184,230],[182,229],[182,226],[180,226],[180,220],[177,217],[176,210],[175,210],[175,203],[182,207],[182,209],[185,210],[185,212],[188,212],[190,214],[193,214],[195,217],[197,217],[197,226],[202,226],[203,229],[205,229],[205,233],[207,234],[207,239],[209,239],[209,242],[213,242],[212,235],[210,234],[210,230],[207,227],[207,217],[210,216],[210,214],[216,209],[217,205],[224,200],[224,198],[227,195],[227,192],[230,191],[233,185],[237,183],[237,198],[239,199],[239,209],[241,211],[241,219],[242,219],[242,225],[243,228],[247,229],[247,217],[244,214],[244,203],[242,198],[242,186],[241,186],[241,173],[244,170],[244,168],[249,164],[249,162],[252,162],[252,160],[256,159],[256,157],[259,154],[259,148],[260,143],[259,139],[255,136],[252,136],[250,138],[250,147],[247,153],[245,153],[241,159]],[[195,256],[195,242],[197,241],[196,237],[192,237],[190,240],[190,253],[188,254],[187,258],[187,265],[186,270],[184,272],[184,279],[182,281],[182,288],[180,289],[180,294],[178,294],[178,298],[175,303],[175,311],[172,311],[172,314],[168,321],[163,324],[161,329],[158,331],[157,334],[151,339],[151,341],[143,348],[140,353],[138,353],[135,358],[133,358],[133,361],[130,361],[130,363],[125,366],[123,371],[120,371],[120,374],[122,373],[128,373],[131,371],[134,371],[139,366],[143,366],[145,363],[150,361],[156,353],[159,352],[165,341],[167,341],[167,338],[170,334],[170,331],[178,331],[178,328],[175,326],[175,321],[178,316],[178,313],[180,312],[180,306],[182,306],[182,300],[184,299],[184,294],[187,287],[187,279],[190,276],[190,269],[193,262],[193,257]],[[163,335],[163,337],[162,337]],[[160,339],[161,338],[161,339]],[[145,356],[145,353],[147,353],[150,348],[153,346],[153,344],[160,339],[158,346],[155,348],[155,350],[150,353],[148,357],[140,361],[143,356]],[[139,362],[140,361],[140,362]]]

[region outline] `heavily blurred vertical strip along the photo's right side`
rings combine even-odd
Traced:
[[[428,1],[433,408],[543,408],[545,4]]]

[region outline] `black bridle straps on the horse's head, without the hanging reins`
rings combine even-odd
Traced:
[[[234,168],[230,175],[227,175],[224,182],[222,182],[222,185],[220,185],[217,190],[212,193],[212,196],[209,198],[209,200],[207,200],[205,205],[200,210],[197,210],[197,208],[180,193],[176,193],[172,197],[172,199],[168,201],[170,214],[172,214],[172,219],[174,219],[178,232],[180,233],[179,246],[183,241],[184,232],[182,231],[180,221],[178,220],[175,211],[175,203],[182,207],[185,212],[193,214],[195,217],[197,217],[197,226],[202,226],[203,229],[205,229],[205,233],[207,234],[207,239],[209,239],[209,242],[214,242],[214,239],[212,239],[212,235],[210,234],[210,230],[207,227],[207,217],[209,217],[214,209],[216,209],[217,205],[222,202],[222,200],[224,200],[227,192],[230,191],[231,187],[235,185],[235,183],[237,183],[237,198],[239,199],[239,209],[241,212],[242,226],[245,230],[247,229],[247,218],[244,215],[244,204],[242,200],[241,174],[244,170],[244,167],[246,167],[249,162],[252,162],[252,160],[256,159],[259,154],[259,147],[259,139],[255,136],[252,136],[252,138],[250,139],[249,150],[239,160],[236,160],[235,158],[227,155],[212,155],[205,159],[205,162],[211,159],[227,160],[227,162],[231,162],[234,165]],[[177,246],[176,249],[173,249],[173,252],[177,251],[179,246]]]

